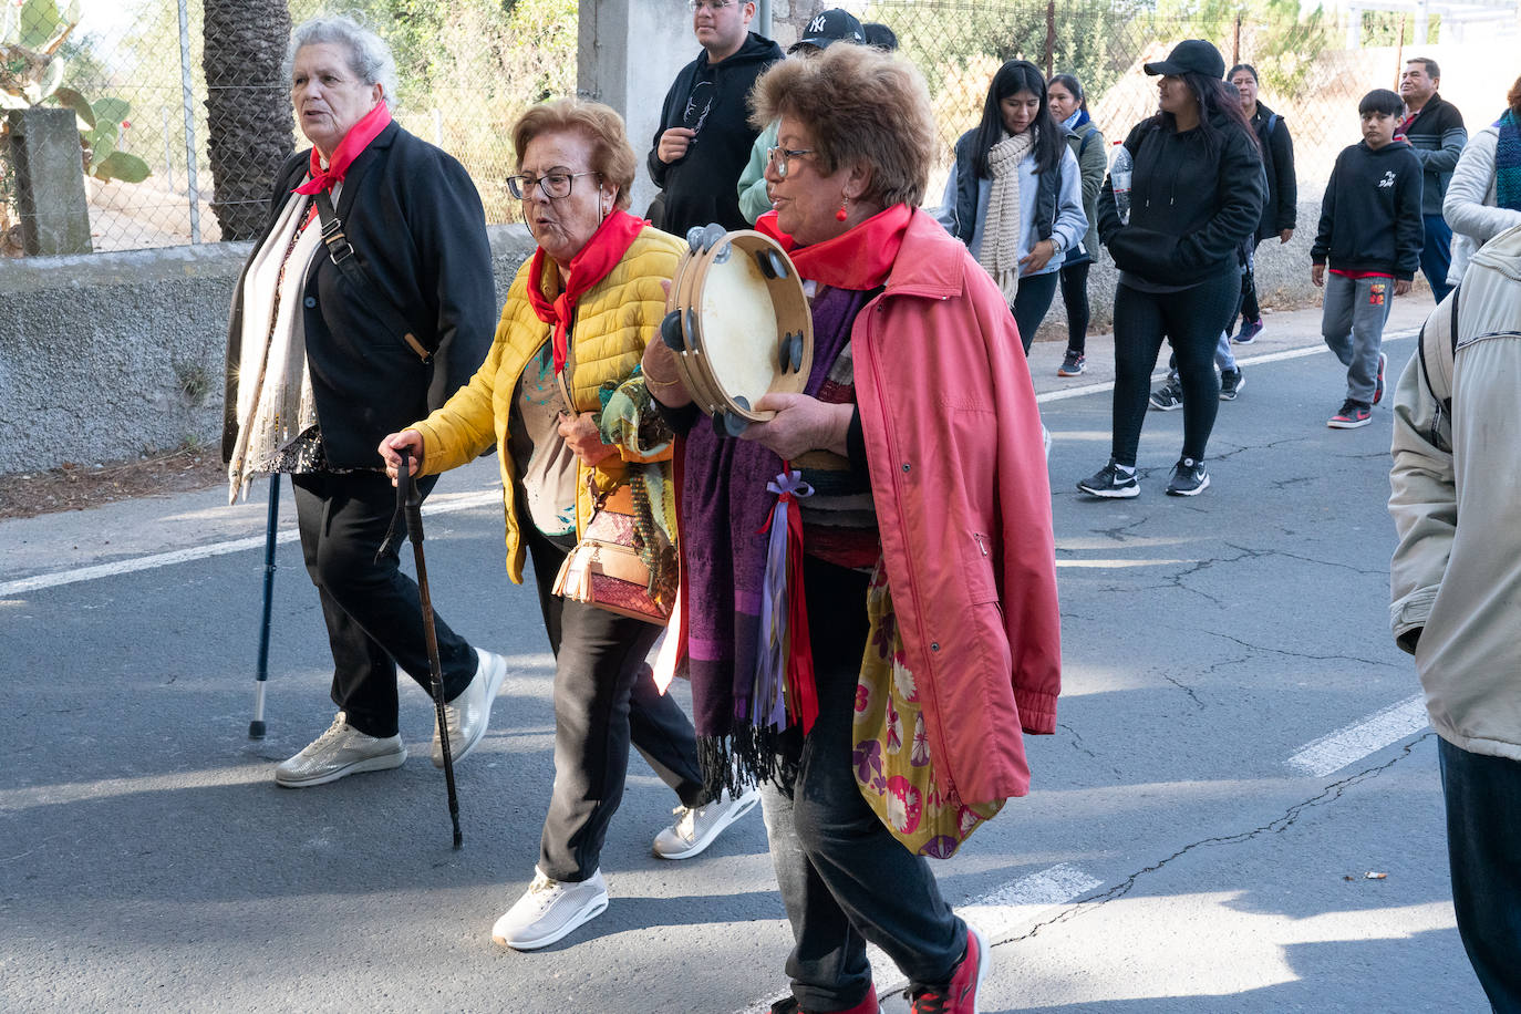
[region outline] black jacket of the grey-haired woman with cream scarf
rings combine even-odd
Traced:
[[[300,151],[280,167],[256,252],[291,190],[306,178],[310,158],[310,149]],[[322,445],[335,468],[374,468],[380,438],[447,401],[490,351],[496,330],[491,245],[481,196],[464,167],[397,123],[380,131],[348,167],[336,211],[373,289],[388,295],[417,339],[433,350],[424,363],[382,324],[373,299],[353,295],[327,249],[318,249],[306,275],[303,324]],[[246,272],[248,263],[237,277],[227,333],[224,461],[237,438]]]

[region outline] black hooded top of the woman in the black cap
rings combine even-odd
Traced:
[[[1130,223],[1119,223],[1112,178],[1098,193],[1098,239],[1121,271],[1188,286],[1238,269],[1238,251],[1262,217],[1267,184],[1246,129],[1224,117],[1215,128],[1214,152],[1199,129],[1179,134],[1161,117],[1130,131]]]

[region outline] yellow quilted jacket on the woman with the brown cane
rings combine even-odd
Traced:
[[[628,377],[639,365],[645,345],[659,341],[660,318],[665,316],[665,290],[660,283],[675,274],[683,249],[684,245],[677,237],[646,228],[618,266],[581,296],[570,328],[573,369],[569,386],[576,412],[599,412],[602,406],[598,389],[602,383]],[[502,319],[496,325],[496,341],[481,369],[443,407],[408,427],[423,435],[424,474],[464,465],[496,445],[502,468],[502,512],[506,520],[506,573],[514,584],[523,582],[526,547],[514,503],[516,470],[513,455],[508,453],[506,418],[517,379],[552,333],[528,301],[531,263],[523,263],[508,289]],[[560,293],[560,275],[554,261],[545,260],[543,274],[545,295],[554,298]],[[589,477],[595,474],[598,488],[610,490],[624,483],[624,462],[669,459],[669,445],[648,458],[619,447],[618,456],[595,468],[583,464],[576,474],[576,535],[586,531],[592,515]]]

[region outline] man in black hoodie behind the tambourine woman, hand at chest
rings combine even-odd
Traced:
[[[735,181],[750,158],[757,131],[747,99],[782,49],[750,30],[756,5],[742,0],[689,0],[701,55],[681,68],[660,109],[649,149],[649,178],[662,189],[657,227],[681,236],[718,222],[750,228],[739,211]]]

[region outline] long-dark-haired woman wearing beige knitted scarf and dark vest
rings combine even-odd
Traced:
[[[983,122],[955,144],[937,216],[1004,292],[1025,353],[1051,309],[1066,251],[1088,233],[1066,134],[1040,70],[1008,61],[987,88]]]

